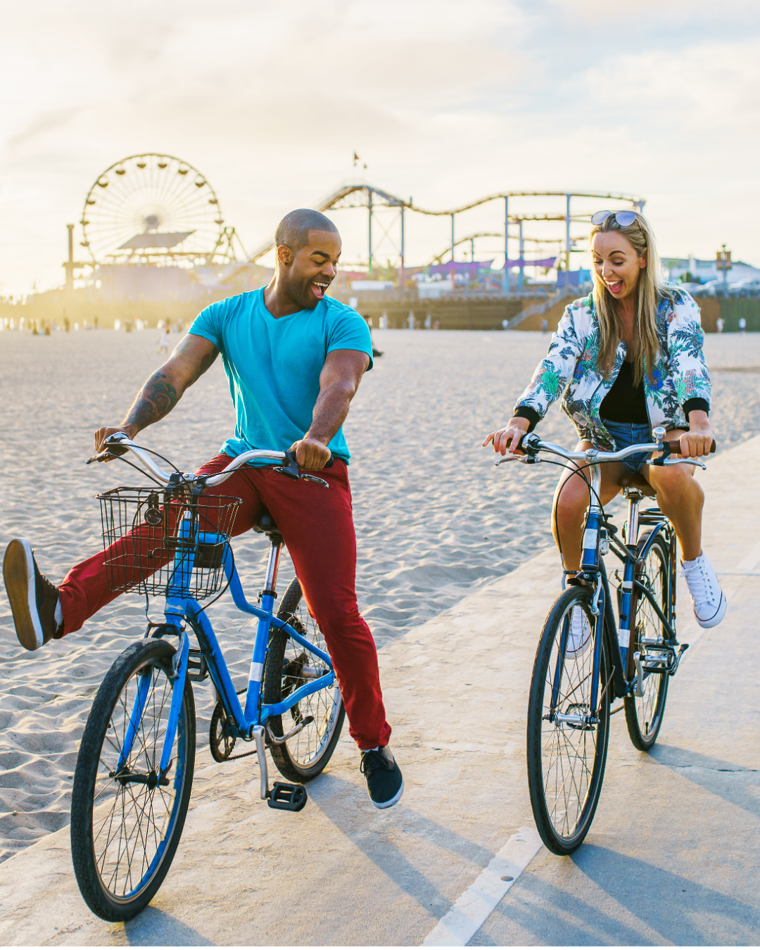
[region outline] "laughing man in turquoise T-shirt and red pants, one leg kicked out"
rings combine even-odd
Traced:
[[[351,453],[342,429],[372,366],[371,336],[359,314],[326,296],[341,254],[333,222],[302,208],[280,221],[275,239],[270,284],[202,311],[146,381],[123,423],[96,431],[95,446],[101,451],[115,432],[134,439],[158,422],[221,353],[237,426],[199,474],[218,472],[249,449],[285,447],[295,451],[301,468],[320,471],[331,490],[318,499],[266,463],[243,466],[208,493],[242,500],[233,535],[251,529],[264,510],[275,520],[333,658],[371,802],[385,808],[401,798],[404,782],[390,753],[377,651],[356,604]],[[331,457],[335,464],[325,469]],[[16,634],[28,650],[79,630],[116,597],[108,590],[102,553],[71,568],[56,587],[40,573],[29,543],[14,539],[3,573]]]

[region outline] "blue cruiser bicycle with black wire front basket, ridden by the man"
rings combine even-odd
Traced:
[[[253,459],[271,460],[286,478],[329,487],[327,482],[299,472],[295,453],[269,450],[244,452],[215,475],[166,473],[123,433],[111,436],[88,461],[109,461],[127,451],[153,485],[98,496],[108,584],[112,591],[164,598],[165,604],[161,623],[148,622],[142,640],[127,647],[105,675],[74,772],[74,871],[85,902],[106,921],[140,913],[180,843],[196,754],[193,682],[210,678],[218,699],[209,735],[212,755],[223,762],[256,754],[261,798],[273,808],[305,806],[302,783],[327,765],[345,717],[333,663],[297,578],[275,614],[283,544],[276,523],[265,512],[256,525],[271,544],[256,606],[245,598],[230,546],[239,499],[204,494]],[[258,619],[248,685],[239,691],[199,603],[223,585],[239,610]],[[238,743],[252,748],[239,751]],[[270,788],[267,748],[288,783]]]

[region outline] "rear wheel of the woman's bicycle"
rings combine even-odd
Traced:
[[[638,544],[638,552],[643,550],[645,536]],[[637,553],[638,553],[637,552]],[[640,556],[640,554],[639,554]],[[638,575],[637,575],[638,576]],[[668,598],[670,597],[670,552],[661,537],[657,537],[646,555],[641,569],[639,580],[646,583],[659,603],[659,608],[668,616]],[[641,640],[664,639],[665,631],[662,621],[656,616],[649,601],[639,593],[637,596],[636,614],[631,630],[631,645],[629,656],[641,650]],[[649,648],[653,652],[653,648]],[[656,652],[656,648],[654,648]],[[631,660],[633,662],[633,658]],[[656,743],[657,734],[662,726],[665,714],[665,702],[668,698],[667,674],[650,674],[644,678],[643,696],[625,696],[625,724],[628,735],[637,750],[646,752]]]

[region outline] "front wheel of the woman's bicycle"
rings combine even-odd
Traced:
[[[528,699],[527,772],[530,804],[543,844],[554,854],[560,855],[571,854],[579,847],[594,820],[610,735],[612,668],[606,627],[601,642],[596,723],[586,725],[583,719],[590,713],[588,700],[596,637],[593,633],[585,651],[572,658],[564,657],[560,673],[559,712],[578,715],[583,725],[558,723],[556,720],[550,722],[548,718],[562,624],[574,609],[582,610],[589,622],[594,619],[590,613],[590,592],[587,588],[569,587],[549,611],[536,650]],[[565,683],[566,686],[563,685]],[[588,742],[588,736],[593,736],[592,743]],[[565,742],[565,739],[568,741]],[[563,746],[572,750],[572,754],[567,754]],[[562,757],[563,754],[566,758]],[[590,768],[586,765],[589,757]],[[576,775],[575,769],[579,765],[581,769]],[[571,775],[565,769],[572,772],[569,788],[566,787]]]

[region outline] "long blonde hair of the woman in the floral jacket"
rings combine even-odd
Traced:
[[[619,231],[630,241],[638,257],[646,257],[646,267],[641,268],[638,274],[635,291],[637,314],[634,324],[637,333],[634,345],[629,352],[629,355],[633,355],[634,383],[638,386],[644,378],[645,371],[650,379],[652,378],[659,352],[657,309],[662,297],[670,299],[672,293],[662,280],[652,226],[642,214],[639,212],[635,214],[636,220],[623,227],[618,224],[613,212],[601,224],[595,224],[592,227],[589,240],[599,232]],[[596,268],[592,270],[591,276],[594,281],[594,307],[599,319],[599,370],[605,376],[609,376],[615,366],[618,341],[622,336],[622,321],[618,314],[617,301],[597,274]]]

